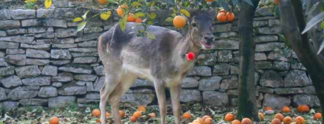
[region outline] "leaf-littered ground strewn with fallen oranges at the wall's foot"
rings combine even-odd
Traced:
[[[87,104],[84,106],[78,106],[76,103],[69,104],[62,108],[43,108],[43,107],[21,107],[16,110],[4,111],[2,109],[0,116],[0,124],[49,124],[49,119],[56,116],[60,119],[60,124],[96,124],[99,117],[91,117],[91,112],[94,109],[99,109],[99,104]],[[132,123],[130,118],[132,114],[137,111],[136,108],[120,108],[125,112],[125,118],[122,119],[124,124],[160,124],[159,109],[158,106],[148,106],[146,112],[143,112],[143,119],[138,120],[136,123]],[[167,107],[167,124],[173,124],[173,115],[171,107]],[[110,112],[110,107],[107,107]],[[189,111],[192,115],[192,119],[182,119],[181,124],[188,124],[196,118],[201,118],[204,115],[209,115],[213,120],[214,124],[230,124],[224,121],[224,116],[228,113],[236,113],[236,108],[221,108],[211,107],[204,104],[183,104],[182,113]],[[293,113],[282,113],[285,117],[302,116],[305,118],[307,124],[320,124],[320,120],[313,120],[313,115],[318,112],[319,109],[312,109],[309,113],[294,113],[296,108],[292,108]],[[259,110],[263,113],[264,110]],[[149,113],[156,113],[156,118],[148,118]],[[182,115],[181,113],[181,115]],[[280,111],[275,111],[281,113]],[[265,120],[258,124],[270,124],[274,118],[273,115],[265,115]],[[109,124],[113,123],[113,118],[107,117]],[[97,123],[99,124],[99,123]]]

